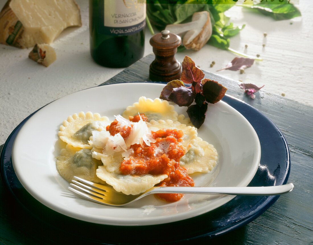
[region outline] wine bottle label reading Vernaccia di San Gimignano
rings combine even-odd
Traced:
[[[146,4],[137,0],[104,0],[105,34],[125,36],[146,26]]]

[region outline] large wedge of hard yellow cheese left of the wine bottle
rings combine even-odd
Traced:
[[[74,0],[9,0],[0,12],[0,43],[18,48],[52,43],[69,26],[81,26]]]

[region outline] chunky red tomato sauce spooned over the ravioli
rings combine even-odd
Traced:
[[[137,116],[130,119],[139,121],[140,117],[139,115]],[[117,121],[115,121],[112,122],[107,130],[110,131],[111,135],[118,131],[123,138],[126,138],[130,134],[131,127],[120,129],[116,126]],[[152,136],[156,142],[150,145],[145,143],[143,143],[143,146],[140,144],[131,145],[131,149],[134,152],[128,160],[122,161],[121,173],[125,175],[166,174],[168,177],[158,186],[194,186],[194,182],[187,174],[187,170],[179,165],[179,159],[185,152],[184,146],[181,145],[182,130],[160,129],[156,132],[152,131]],[[156,194],[156,196],[167,202],[176,202],[184,194],[160,193]]]

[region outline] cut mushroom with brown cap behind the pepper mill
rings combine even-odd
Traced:
[[[182,37],[185,48],[198,51],[212,35],[210,13],[196,12],[192,15],[191,22],[167,25],[165,29]]]

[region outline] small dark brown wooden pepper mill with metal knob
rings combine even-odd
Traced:
[[[176,34],[163,30],[150,39],[155,60],[150,64],[149,76],[151,81],[170,82],[180,79],[182,66],[174,55],[182,39]]]

